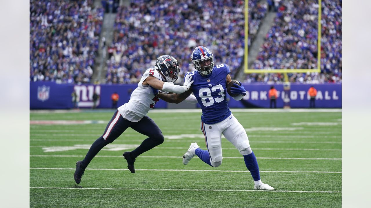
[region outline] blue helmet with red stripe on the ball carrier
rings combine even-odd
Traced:
[[[210,50],[204,46],[196,47],[192,54],[191,60],[193,62],[194,68],[202,76],[206,76],[213,71],[214,68],[214,55]]]

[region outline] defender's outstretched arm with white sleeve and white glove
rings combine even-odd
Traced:
[[[167,82],[163,82],[161,80],[158,80],[155,77],[149,76],[144,80],[143,84],[144,85],[148,84],[152,88],[155,88],[157,90],[163,90],[163,91],[170,92],[170,93],[184,93],[185,91],[189,90],[189,88],[191,87],[191,84],[193,83],[193,80],[192,81],[191,80],[192,80],[192,76],[187,75],[185,77],[184,85],[179,86],[179,85],[174,85],[174,84],[170,84]]]

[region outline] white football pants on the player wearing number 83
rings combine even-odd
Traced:
[[[237,118],[231,114],[225,120],[216,124],[205,124],[201,121],[201,131],[205,136],[207,150],[213,167],[221,164],[221,134],[230,141],[242,155],[251,153],[249,138]]]

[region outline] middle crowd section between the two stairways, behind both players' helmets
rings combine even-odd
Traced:
[[[267,4],[258,0],[249,4],[250,40]],[[180,75],[193,71],[190,53],[198,45],[214,53],[215,64],[227,63],[234,76],[244,54],[243,8],[242,0],[132,0],[129,7],[118,9],[114,40],[108,48],[107,83],[137,82],[143,70],[154,66],[158,54],[177,58]]]

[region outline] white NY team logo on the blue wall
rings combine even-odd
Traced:
[[[78,107],[93,107],[93,94],[101,95],[101,86],[99,85],[75,85],[73,89],[79,98]],[[99,106],[99,100],[96,101],[95,106]]]

